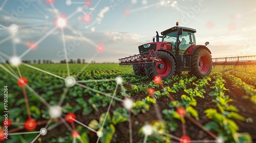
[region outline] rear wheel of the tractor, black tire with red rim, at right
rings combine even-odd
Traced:
[[[210,53],[205,49],[196,50],[191,57],[190,75],[202,78],[210,74],[212,59]]]

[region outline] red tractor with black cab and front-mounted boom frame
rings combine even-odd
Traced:
[[[139,46],[140,54],[121,58],[119,64],[132,64],[135,75],[147,75],[151,79],[155,76],[171,78],[181,71],[188,71],[198,78],[209,75],[212,67],[211,52],[206,47],[209,42],[197,45],[197,31],[178,25],[176,22],[176,27],[161,32],[162,36],[157,32],[153,42]]]

